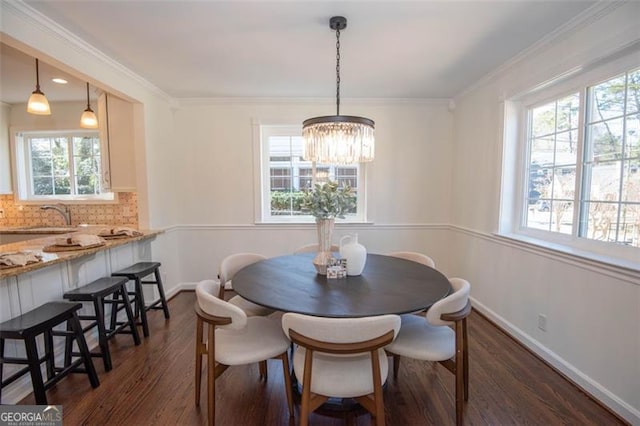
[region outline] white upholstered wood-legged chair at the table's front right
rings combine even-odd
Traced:
[[[471,313],[469,282],[450,278],[453,293],[434,303],[426,316],[402,315],[398,337],[385,349],[393,355],[394,378],[400,357],[438,361],[456,378],[456,424],[462,424],[464,401],[469,399],[467,317]],[[452,329],[450,326],[453,326]]]

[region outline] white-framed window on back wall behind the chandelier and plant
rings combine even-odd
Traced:
[[[348,184],[357,203],[347,222],[364,221],[364,178],[359,164],[316,164],[302,159],[301,126],[260,126],[260,200],[262,222],[310,222],[302,211],[305,190],[328,180]]]

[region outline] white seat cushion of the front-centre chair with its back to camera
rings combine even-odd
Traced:
[[[293,369],[302,382],[305,348],[296,347]],[[387,381],[389,363],[383,349],[379,349],[380,378]],[[358,355],[329,355],[314,352],[311,371],[311,392],[336,398],[352,398],[373,393],[373,375],[369,353]]]

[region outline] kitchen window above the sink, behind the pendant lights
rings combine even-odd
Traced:
[[[14,146],[20,200],[113,199],[101,188],[97,131],[22,132]]]

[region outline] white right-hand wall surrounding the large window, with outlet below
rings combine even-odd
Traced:
[[[640,424],[638,271],[493,232],[499,223],[502,101],[637,43],[639,18],[638,2],[594,17],[456,99],[451,219],[458,259],[452,273],[470,280],[474,306],[634,424]],[[537,328],[538,314],[547,316],[547,332]]]

